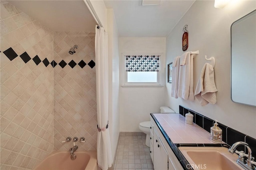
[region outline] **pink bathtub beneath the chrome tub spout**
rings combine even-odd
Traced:
[[[76,151],[76,159],[71,160],[69,151],[54,151],[34,170],[99,170],[96,151]]]

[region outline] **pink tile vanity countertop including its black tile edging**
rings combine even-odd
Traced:
[[[193,168],[178,149],[179,146],[230,147],[225,142],[222,144],[212,142],[208,131],[196,124],[185,123],[185,117],[178,113],[151,113],[150,115],[184,170],[193,170]]]

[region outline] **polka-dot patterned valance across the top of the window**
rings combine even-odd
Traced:
[[[126,71],[159,71],[160,55],[126,55]]]

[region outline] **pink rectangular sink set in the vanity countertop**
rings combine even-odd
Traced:
[[[243,170],[236,163],[238,155],[225,147],[180,146],[179,150],[194,170]]]

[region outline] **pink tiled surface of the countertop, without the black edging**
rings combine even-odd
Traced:
[[[185,117],[180,114],[153,113],[153,115],[174,144],[216,144],[211,141],[209,132],[196,124],[185,123]]]

